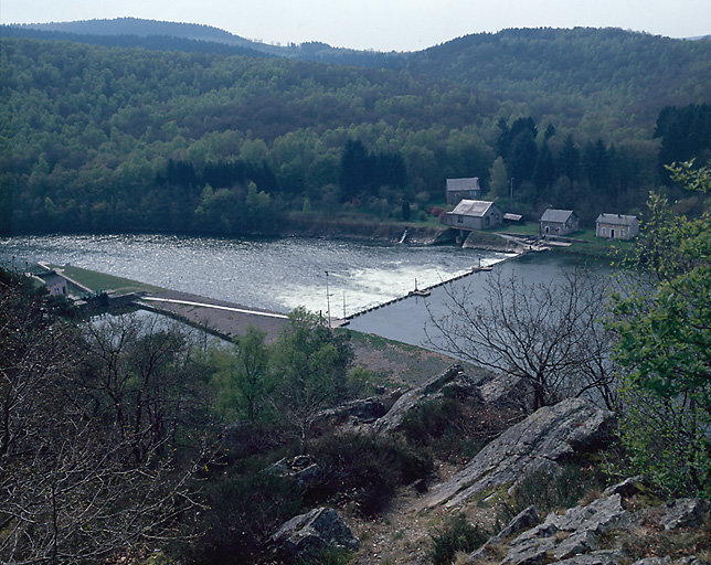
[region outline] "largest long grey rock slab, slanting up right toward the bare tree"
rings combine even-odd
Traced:
[[[488,444],[450,480],[435,486],[422,507],[454,507],[501,486],[514,486],[531,472],[558,467],[556,461],[598,444],[613,420],[612,412],[584,398],[540,408]]]

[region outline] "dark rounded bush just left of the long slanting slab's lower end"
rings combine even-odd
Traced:
[[[365,515],[379,514],[400,484],[425,478],[432,458],[401,441],[367,434],[335,434],[309,446],[323,471],[322,482],[306,495],[314,501],[339,498]]]

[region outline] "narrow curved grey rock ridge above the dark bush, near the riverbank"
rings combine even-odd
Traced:
[[[477,382],[468,376],[461,366],[452,365],[444,373],[429,379],[421,387],[406,392],[397,398],[388,414],[373,423],[372,429],[381,434],[393,431],[401,426],[412,411],[443,396],[473,398],[475,402],[481,402]]]

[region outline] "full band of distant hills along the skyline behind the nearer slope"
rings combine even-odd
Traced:
[[[107,46],[212,52],[406,70],[491,93],[509,111],[596,128],[651,130],[659,109],[705,102],[711,41],[672,40],[619,29],[503,30],[412,53],[336,49],[309,42],[270,45],[208,25],[120,18],[2,28],[3,35]]]

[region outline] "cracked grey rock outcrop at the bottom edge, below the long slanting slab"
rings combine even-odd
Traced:
[[[615,563],[612,554],[599,554],[599,561],[580,559],[582,554],[595,555],[599,548],[598,536],[614,527],[632,522],[632,515],[622,505],[622,497],[613,494],[590,504],[575,507],[564,514],[551,513],[545,521],[529,530],[509,546],[502,565],[523,565],[539,561],[565,563]]]

